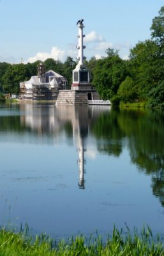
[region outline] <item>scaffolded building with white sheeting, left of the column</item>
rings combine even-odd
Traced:
[[[55,100],[58,90],[66,88],[65,77],[53,70],[45,72],[45,66],[38,65],[38,76],[32,76],[29,81],[20,83],[21,99],[30,100]]]

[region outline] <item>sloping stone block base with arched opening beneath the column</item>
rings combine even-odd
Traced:
[[[89,100],[100,100],[96,90],[60,90],[56,105],[89,104]]]

